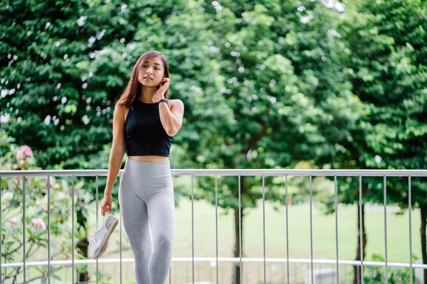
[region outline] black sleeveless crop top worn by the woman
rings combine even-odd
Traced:
[[[126,117],[125,141],[128,156],[169,157],[172,136],[167,135],[160,121],[159,102],[147,104],[135,99]]]

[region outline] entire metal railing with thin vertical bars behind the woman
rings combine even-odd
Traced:
[[[122,174],[122,170],[120,170],[120,175]],[[98,209],[98,177],[106,176],[107,170],[22,170],[22,171],[0,171],[0,190],[1,190],[1,179],[6,177],[19,177],[23,178],[22,189],[25,192],[25,178],[26,177],[47,177],[47,188],[48,188],[48,212],[50,212],[50,178],[51,177],[71,177],[72,178],[72,195],[75,196],[75,188],[74,188],[74,178],[75,177],[95,177],[96,178],[96,208]],[[266,263],[270,262],[278,262],[278,263],[286,263],[287,266],[287,283],[290,283],[289,278],[289,263],[310,263],[311,266],[311,283],[314,283],[314,263],[324,263],[324,264],[334,264],[336,267],[336,281],[339,283],[339,265],[351,265],[351,266],[360,266],[361,273],[364,275],[364,266],[384,266],[385,268],[385,281],[388,283],[388,275],[387,270],[389,267],[396,268],[409,268],[410,271],[410,279],[411,283],[413,283],[413,268],[422,268],[427,269],[427,265],[414,264],[412,260],[412,217],[411,217],[411,178],[412,177],[427,177],[427,170],[172,170],[172,175],[186,175],[191,177],[191,258],[173,258],[174,262],[179,261],[191,261],[192,267],[192,283],[194,283],[194,263],[195,262],[203,262],[203,261],[215,261],[216,262],[216,283],[218,283],[218,262],[221,261],[233,261],[235,263],[240,263],[240,267],[242,267],[242,263],[244,262],[262,262],[263,263],[263,280],[266,283]],[[194,257],[194,176],[214,176],[215,177],[215,200],[216,200],[216,257],[215,258],[196,258]],[[238,209],[239,209],[239,220],[241,220],[241,176],[261,176],[263,180],[263,258],[242,258],[242,231],[239,222],[239,242],[240,242],[240,256],[239,258],[220,258],[218,257],[218,184],[217,178],[218,176],[236,176],[238,177]],[[285,198],[288,200],[288,177],[294,176],[305,176],[310,178],[310,259],[295,259],[289,258],[289,236],[288,236],[288,202],[285,202],[286,206],[286,258],[266,258],[265,257],[265,177],[266,176],[283,176],[285,177]],[[334,177],[334,209],[335,209],[335,250],[336,250],[336,259],[331,260],[318,260],[313,258],[313,229],[312,229],[312,177]],[[361,246],[361,261],[343,261],[339,260],[339,246],[338,246],[338,219],[337,219],[337,209],[338,209],[338,195],[337,195],[337,177],[359,177],[359,212],[360,212],[360,242],[362,244],[362,177],[383,177],[384,178],[384,245],[385,245],[385,261],[377,262],[377,261],[363,261],[363,251]],[[386,219],[386,178],[388,177],[406,177],[408,178],[408,212],[409,212],[409,251],[410,258],[408,263],[390,263],[387,255],[388,244],[387,244],[387,219]],[[26,215],[26,200],[25,194],[23,194],[23,220],[25,220]],[[74,198],[72,198],[72,212],[75,209]],[[0,195],[0,212],[1,209],[1,195]],[[72,246],[75,247],[74,240],[74,214],[72,214]],[[98,212],[97,214],[98,215]],[[0,213],[1,220],[1,213]],[[50,214],[48,214],[48,261],[38,261],[38,262],[26,262],[26,247],[25,241],[23,241],[23,262],[21,263],[1,263],[0,257],[0,271],[2,268],[6,267],[23,267],[23,282],[26,283],[26,267],[31,266],[48,266],[48,283],[51,283],[51,266],[55,264],[66,264],[70,265],[75,270],[75,264],[83,264],[83,263],[96,263],[97,271],[98,271],[98,263],[120,263],[120,284],[122,283],[122,263],[132,262],[132,258],[122,258],[122,226],[120,225],[120,258],[118,259],[101,259],[101,260],[78,260],[75,261],[74,249],[72,253],[71,261],[51,261],[51,232],[50,232]],[[98,226],[98,219],[96,217],[96,224]],[[121,222],[120,222],[121,224]],[[23,222],[23,240],[25,240],[25,231],[26,224]],[[1,231],[1,224],[0,224]],[[242,269],[240,270],[240,279],[243,279]],[[73,283],[74,281],[74,273],[73,274]],[[98,276],[98,273],[96,273]],[[98,279],[97,279],[98,283]],[[172,283],[171,275],[169,273],[169,283]],[[361,278],[361,283],[364,284],[364,278]]]

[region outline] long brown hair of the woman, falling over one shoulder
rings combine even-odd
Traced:
[[[135,66],[132,69],[132,75],[130,75],[130,80],[127,83],[125,92],[123,92],[122,96],[120,96],[120,99],[115,103],[116,107],[120,106],[129,108],[132,103],[135,102],[135,99],[138,98],[139,94],[141,94],[142,85],[138,81],[139,70],[141,69],[142,65],[144,65],[144,63],[149,60],[149,58],[153,57],[158,57],[162,60],[164,67],[164,77],[169,78],[169,65],[167,64],[166,56],[156,50],[147,51],[147,53],[141,55],[141,57],[139,57],[139,59],[135,63]],[[169,90],[166,90],[166,92],[164,93],[164,97],[166,99],[169,97]]]

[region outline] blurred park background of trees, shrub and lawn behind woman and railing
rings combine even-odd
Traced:
[[[0,19],[0,170],[41,173],[1,177],[2,284],[23,283],[23,269],[6,263],[47,260],[48,214],[51,260],[90,256],[105,176],[43,170],[107,169],[114,104],[148,50],[168,58],[169,96],[185,106],[172,169],[427,168],[427,1],[2,0]],[[215,258],[218,241],[219,257],[261,261],[243,272],[233,261],[194,271],[174,261],[170,283],[310,283],[310,262],[264,266],[263,256],[311,251],[332,260],[316,264],[322,272],[336,269],[338,246],[340,260],[427,263],[426,175],[339,177],[336,195],[334,177],[176,176],[174,185],[175,258],[191,258],[194,234],[196,257]],[[122,237],[115,231],[103,258],[132,258]],[[122,282],[135,283],[133,263],[123,266]],[[73,268],[52,266],[51,277],[27,268],[26,283],[71,283],[73,273],[75,283],[121,283],[117,263]],[[337,270],[340,283],[427,283],[422,268]]]

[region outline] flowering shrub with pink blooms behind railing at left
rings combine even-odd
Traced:
[[[12,145],[10,151],[0,157],[0,170],[39,170],[36,168],[33,151],[28,146]],[[25,229],[27,261],[46,261],[41,248],[48,246],[48,178],[25,178]],[[84,211],[92,200],[83,190],[83,181],[75,182],[75,209]],[[72,256],[71,239],[71,187],[67,180],[49,178],[50,186],[50,234],[51,260],[65,260]],[[75,225],[75,231],[81,230]],[[77,234],[77,233],[76,233]],[[87,238],[79,233],[78,238]],[[21,262],[23,258],[23,178],[1,178],[1,258],[3,263]],[[61,267],[51,267],[51,275]],[[28,269],[28,268],[27,268]],[[31,280],[41,279],[46,283],[48,267],[37,268]],[[2,271],[3,273],[4,271]],[[3,280],[22,276],[23,268],[8,268]],[[28,279],[27,279],[28,280]]]

